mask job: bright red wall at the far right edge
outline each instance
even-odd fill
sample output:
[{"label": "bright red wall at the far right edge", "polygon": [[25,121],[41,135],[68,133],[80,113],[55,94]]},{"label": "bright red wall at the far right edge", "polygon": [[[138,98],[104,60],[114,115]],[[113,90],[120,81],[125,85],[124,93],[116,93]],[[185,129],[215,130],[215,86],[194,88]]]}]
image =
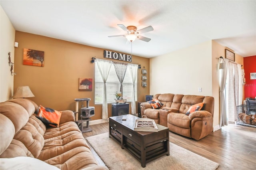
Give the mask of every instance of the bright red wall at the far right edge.
[{"label": "bright red wall at the far right edge", "polygon": [[256,73],[256,55],[244,57],[244,73],[246,81],[244,85],[244,98],[254,98],[256,97],[256,80],[250,79],[250,73]]}]

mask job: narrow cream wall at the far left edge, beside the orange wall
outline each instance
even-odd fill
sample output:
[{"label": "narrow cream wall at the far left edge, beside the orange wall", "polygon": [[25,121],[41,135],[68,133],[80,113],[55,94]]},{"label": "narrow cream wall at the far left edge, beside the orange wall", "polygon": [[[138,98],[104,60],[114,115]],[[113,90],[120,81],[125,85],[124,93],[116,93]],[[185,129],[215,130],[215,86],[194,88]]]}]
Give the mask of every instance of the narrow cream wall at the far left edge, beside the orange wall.
[{"label": "narrow cream wall at the far left edge, beside the orange wall", "polygon": [[[8,64],[8,52],[11,52],[11,61],[14,62],[15,29],[9,18],[0,8],[0,102],[13,96],[13,80],[11,67]],[[14,66],[15,67],[15,66]]]}]

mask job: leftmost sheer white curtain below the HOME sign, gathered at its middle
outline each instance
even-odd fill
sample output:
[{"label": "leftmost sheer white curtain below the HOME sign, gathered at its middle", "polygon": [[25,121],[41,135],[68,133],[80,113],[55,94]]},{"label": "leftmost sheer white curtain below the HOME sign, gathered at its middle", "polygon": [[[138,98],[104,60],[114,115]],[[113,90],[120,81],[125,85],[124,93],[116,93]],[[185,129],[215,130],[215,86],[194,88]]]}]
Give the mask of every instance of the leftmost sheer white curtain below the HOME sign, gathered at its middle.
[{"label": "leftmost sheer white curtain below the HOME sign, gathered at its middle", "polygon": [[103,87],[103,100],[102,100],[102,119],[108,118],[108,99],[107,99],[107,87],[106,81],[108,79],[108,73],[112,65],[112,61],[104,59],[96,59],[100,75],[102,77],[104,87]]}]

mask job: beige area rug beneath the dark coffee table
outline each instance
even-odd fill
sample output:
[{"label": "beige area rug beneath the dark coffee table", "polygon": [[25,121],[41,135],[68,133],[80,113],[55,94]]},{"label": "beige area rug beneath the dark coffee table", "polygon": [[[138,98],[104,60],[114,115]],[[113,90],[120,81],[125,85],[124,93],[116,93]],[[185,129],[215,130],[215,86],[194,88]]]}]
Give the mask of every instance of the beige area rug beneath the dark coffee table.
[{"label": "beige area rug beneath the dark coffee table", "polygon": [[90,136],[86,140],[110,170],[215,170],[219,166],[170,142],[170,156],[164,155],[142,168],[137,159],[108,137],[108,132]]}]

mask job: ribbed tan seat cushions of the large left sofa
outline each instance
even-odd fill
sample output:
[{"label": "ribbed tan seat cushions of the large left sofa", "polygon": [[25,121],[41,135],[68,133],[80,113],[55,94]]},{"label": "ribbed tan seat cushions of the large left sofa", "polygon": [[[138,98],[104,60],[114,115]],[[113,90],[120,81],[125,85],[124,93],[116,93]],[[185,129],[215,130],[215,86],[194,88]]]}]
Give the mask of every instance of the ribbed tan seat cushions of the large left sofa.
[{"label": "ribbed tan seat cushions of the large left sofa", "polygon": [[58,128],[48,128],[44,139],[44,147],[38,159],[48,164],[62,170],[97,165],[89,145],[75,122],[60,124]]}]

